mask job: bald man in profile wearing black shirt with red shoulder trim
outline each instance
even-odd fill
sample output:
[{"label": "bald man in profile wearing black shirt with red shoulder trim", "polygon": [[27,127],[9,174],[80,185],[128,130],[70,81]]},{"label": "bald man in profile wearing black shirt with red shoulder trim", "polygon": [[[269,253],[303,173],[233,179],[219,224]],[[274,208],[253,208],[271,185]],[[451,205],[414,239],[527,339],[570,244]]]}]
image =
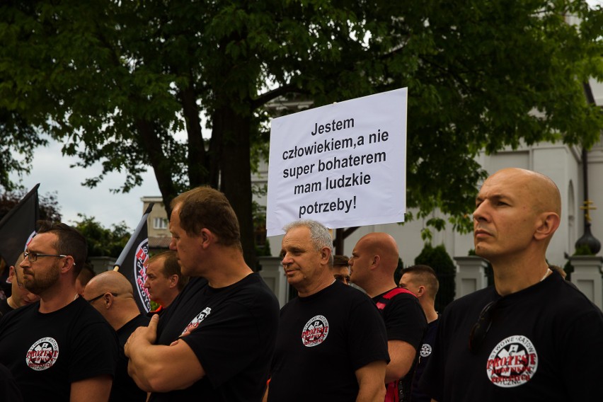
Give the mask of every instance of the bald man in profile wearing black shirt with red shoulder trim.
[{"label": "bald man in profile wearing black shirt with red shoulder trim", "polygon": [[387,330],[390,362],[385,372],[386,401],[410,401],[413,373],[427,320],[415,294],[394,280],[398,245],[386,233],[370,233],[356,243],[350,279],[377,304]]}]

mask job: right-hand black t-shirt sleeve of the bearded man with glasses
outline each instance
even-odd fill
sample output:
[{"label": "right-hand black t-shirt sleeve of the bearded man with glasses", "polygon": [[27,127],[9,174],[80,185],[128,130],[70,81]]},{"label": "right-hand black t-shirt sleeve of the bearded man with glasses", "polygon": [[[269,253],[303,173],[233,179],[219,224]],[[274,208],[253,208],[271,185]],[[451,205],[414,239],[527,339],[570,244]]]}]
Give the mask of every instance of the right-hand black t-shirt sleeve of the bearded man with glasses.
[{"label": "right-hand black t-shirt sleeve of the bearded man with glasses", "polygon": [[115,375],[118,357],[117,334],[108,323],[86,323],[80,325],[79,331],[74,331],[72,335],[74,336],[71,337],[69,345],[69,382]]}]

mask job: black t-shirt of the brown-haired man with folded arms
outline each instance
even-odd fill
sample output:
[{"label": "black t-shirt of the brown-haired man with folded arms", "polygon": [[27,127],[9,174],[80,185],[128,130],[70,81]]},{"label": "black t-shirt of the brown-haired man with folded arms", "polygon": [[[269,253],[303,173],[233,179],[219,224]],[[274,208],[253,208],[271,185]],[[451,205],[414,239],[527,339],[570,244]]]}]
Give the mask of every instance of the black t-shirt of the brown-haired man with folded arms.
[{"label": "black t-shirt of the brown-haired man with folded arms", "polygon": [[184,290],[159,318],[166,320],[159,343],[190,329],[182,339],[206,375],[188,389],[151,394],[151,401],[260,401],[278,325],[274,293],[258,273],[219,289],[196,280]]}]

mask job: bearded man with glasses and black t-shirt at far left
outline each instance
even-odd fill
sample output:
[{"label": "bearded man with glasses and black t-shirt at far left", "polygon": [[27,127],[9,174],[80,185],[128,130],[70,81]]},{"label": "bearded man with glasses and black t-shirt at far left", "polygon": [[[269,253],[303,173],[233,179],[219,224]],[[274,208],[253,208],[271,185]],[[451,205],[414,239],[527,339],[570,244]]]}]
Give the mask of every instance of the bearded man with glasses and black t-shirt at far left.
[{"label": "bearded man with glasses and black t-shirt at far left", "polygon": [[0,364],[24,401],[107,401],[117,360],[115,332],[79,297],[86,240],[66,224],[42,222],[20,267],[40,297],[0,320]]}]

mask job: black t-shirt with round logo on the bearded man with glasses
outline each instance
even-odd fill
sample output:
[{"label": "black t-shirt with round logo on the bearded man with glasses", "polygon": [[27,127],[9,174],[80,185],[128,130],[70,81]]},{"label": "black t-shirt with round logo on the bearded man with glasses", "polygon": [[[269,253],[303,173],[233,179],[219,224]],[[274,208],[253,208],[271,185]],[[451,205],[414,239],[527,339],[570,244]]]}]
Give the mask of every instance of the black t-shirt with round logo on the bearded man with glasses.
[{"label": "black t-shirt with round logo on the bearded man with glasses", "polygon": [[117,337],[86,300],[42,314],[40,302],[0,320],[0,363],[24,401],[69,401],[71,383],[115,374]]}]

